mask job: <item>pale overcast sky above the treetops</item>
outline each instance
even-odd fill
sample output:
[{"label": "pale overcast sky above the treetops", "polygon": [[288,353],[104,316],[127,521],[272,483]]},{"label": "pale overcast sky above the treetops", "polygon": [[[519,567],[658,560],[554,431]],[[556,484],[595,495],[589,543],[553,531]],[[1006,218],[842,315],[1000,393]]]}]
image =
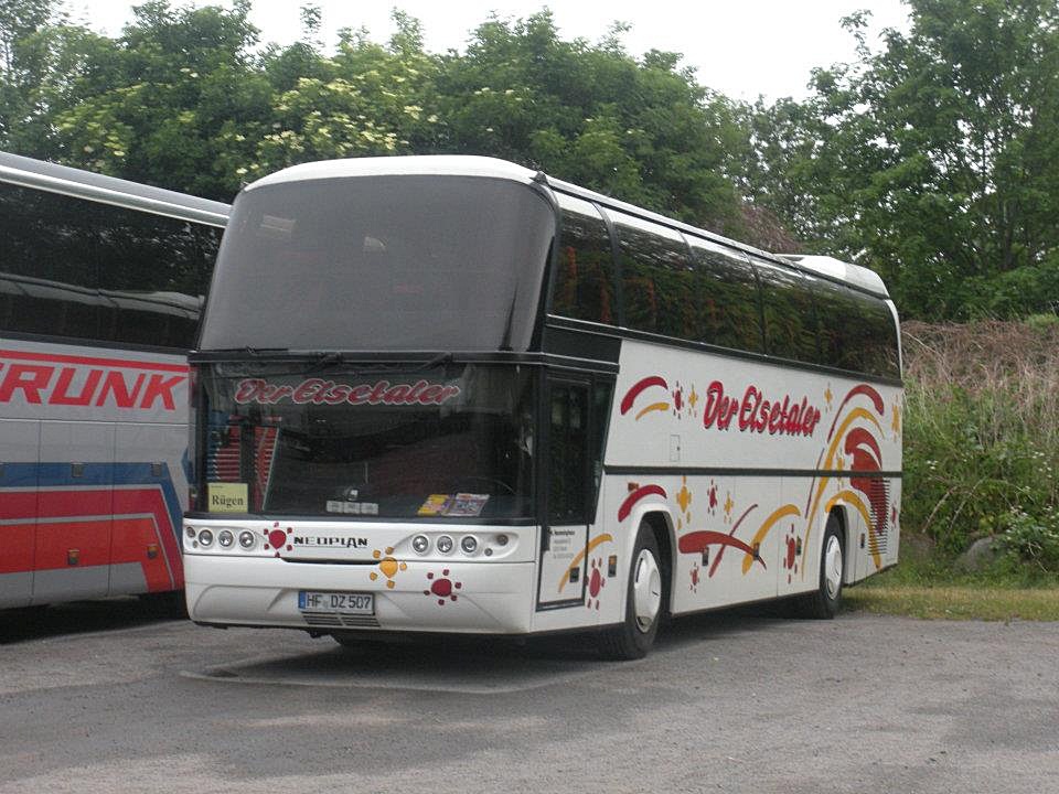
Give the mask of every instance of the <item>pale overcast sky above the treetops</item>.
[{"label": "pale overcast sky above the treetops", "polygon": [[[174,6],[231,6],[171,0]],[[547,6],[564,39],[598,41],[611,23],[631,25],[622,40],[633,55],[649,50],[678,52],[683,65],[696,69],[698,82],[732,99],[804,98],[814,66],[854,60],[853,37],[839,20],[858,9],[871,11],[868,43],[879,45],[885,28],[907,30],[908,9],[901,0],[311,0],[323,14],[324,45],[333,46],[341,28],[364,26],[374,41],[394,31],[396,6],[419,19],[426,49],[462,51],[470,32],[491,12],[501,18],[528,17]],[[254,0],[250,21],[263,42],[289,44],[300,32],[299,0]],[[117,36],[132,19],[127,0],[66,0],[73,20]]]}]

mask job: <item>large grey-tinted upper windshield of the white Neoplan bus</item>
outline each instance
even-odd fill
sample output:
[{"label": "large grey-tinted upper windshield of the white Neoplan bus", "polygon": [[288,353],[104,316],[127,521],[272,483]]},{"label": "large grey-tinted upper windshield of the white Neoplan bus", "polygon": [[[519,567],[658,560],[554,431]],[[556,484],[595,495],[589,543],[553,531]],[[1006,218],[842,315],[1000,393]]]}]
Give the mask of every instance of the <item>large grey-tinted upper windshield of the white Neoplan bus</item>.
[{"label": "large grey-tinted upper windshield of the white Neoplan bus", "polygon": [[201,348],[526,350],[555,219],[527,185],[357,176],[243,193]]}]

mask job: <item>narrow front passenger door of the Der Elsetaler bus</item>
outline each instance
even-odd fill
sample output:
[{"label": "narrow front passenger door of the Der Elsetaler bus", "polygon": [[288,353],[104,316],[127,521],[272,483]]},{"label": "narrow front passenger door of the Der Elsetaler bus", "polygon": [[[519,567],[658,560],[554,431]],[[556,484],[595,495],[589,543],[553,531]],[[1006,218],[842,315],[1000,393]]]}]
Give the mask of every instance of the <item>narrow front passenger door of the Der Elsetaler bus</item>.
[{"label": "narrow front passenger door of the Der Elsetaler bus", "polygon": [[589,382],[549,379],[545,389],[545,457],[537,483],[545,490],[537,609],[585,602],[588,544]]}]

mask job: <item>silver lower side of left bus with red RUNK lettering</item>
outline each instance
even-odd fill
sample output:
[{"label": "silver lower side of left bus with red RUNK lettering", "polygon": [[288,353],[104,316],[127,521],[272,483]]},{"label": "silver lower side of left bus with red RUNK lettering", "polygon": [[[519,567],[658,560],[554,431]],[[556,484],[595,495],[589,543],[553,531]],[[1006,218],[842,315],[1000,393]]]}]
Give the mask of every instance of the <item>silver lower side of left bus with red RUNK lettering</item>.
[{"label": "silver lower side of left bus with red RUNK lettering", "polygon": [[0,608],[179,589],[188,365],[0,340]]}]

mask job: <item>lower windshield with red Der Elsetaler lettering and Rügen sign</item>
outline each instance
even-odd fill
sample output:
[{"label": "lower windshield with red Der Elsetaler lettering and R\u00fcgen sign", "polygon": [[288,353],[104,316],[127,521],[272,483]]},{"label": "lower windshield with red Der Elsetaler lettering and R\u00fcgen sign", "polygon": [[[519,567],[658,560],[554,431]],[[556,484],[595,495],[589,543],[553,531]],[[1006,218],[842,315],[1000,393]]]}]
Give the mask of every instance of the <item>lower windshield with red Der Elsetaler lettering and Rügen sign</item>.
[{"label": "lower windshield with red Der Elsetaler lettering and R\u00fcgen sign", "polygon": [[[249,513],[370,518],[533,515],[526,367],[199,371],[205,501],[234,485]],[[211,498],[213,497],[213,501]]]}]

